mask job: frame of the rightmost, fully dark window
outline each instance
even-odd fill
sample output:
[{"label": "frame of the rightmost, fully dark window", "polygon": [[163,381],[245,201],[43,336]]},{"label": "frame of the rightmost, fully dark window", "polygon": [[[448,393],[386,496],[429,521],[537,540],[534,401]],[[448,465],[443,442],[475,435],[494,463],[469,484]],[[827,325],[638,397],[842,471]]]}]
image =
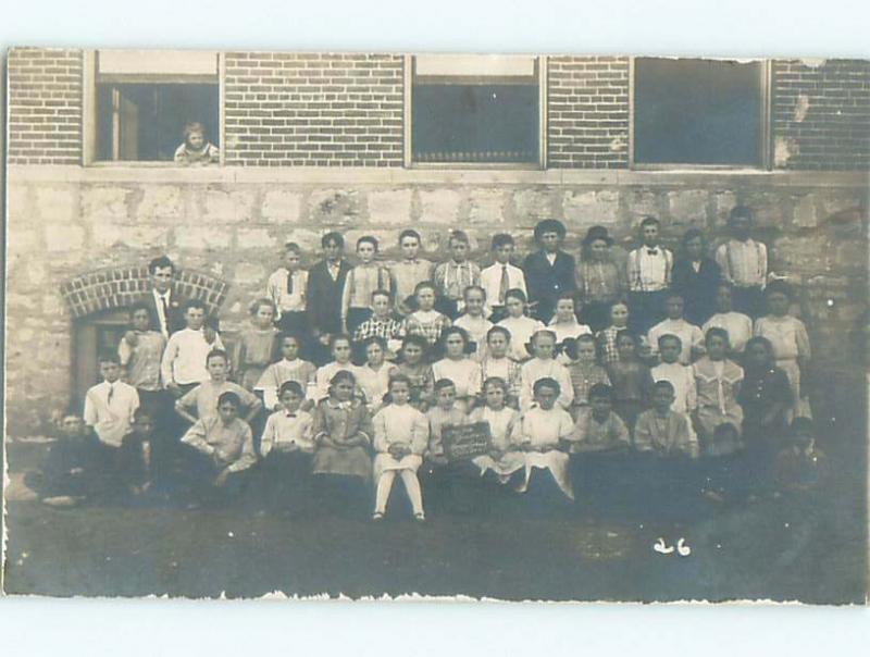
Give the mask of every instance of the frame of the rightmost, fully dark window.
[{"label": "frame of the rightmost, fully dark window", "polygon": [[[761,109],[759,116],[760,136],[758,144],[758,164],[699,164],[692,162],[637,162],[634,159],[634,121],[635,121],[635,92],[636,79],[635,62],[638,58],[629,60],[629,170],[630,171],[721,171],[721,172],[758,172],[772,171],[773,144],[772,144],[772,62],[769,59],[753,59],[761,64],[759,85],[761,87]],[[646,59],[646,58],[639,58]],[[714,58],[682,58],[682,59],[714,59]]]}]

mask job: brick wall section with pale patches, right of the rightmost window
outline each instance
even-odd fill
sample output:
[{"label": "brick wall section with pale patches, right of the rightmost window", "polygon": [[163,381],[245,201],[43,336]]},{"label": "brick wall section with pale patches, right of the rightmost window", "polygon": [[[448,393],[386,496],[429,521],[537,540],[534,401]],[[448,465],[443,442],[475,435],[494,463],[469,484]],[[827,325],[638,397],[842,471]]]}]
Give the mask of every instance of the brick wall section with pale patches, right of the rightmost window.
[{"label": "brick wall section with pale patches, right of the rightmost window", "polygon": [[870,62],[773,64],[778,169],[870,169]]}]

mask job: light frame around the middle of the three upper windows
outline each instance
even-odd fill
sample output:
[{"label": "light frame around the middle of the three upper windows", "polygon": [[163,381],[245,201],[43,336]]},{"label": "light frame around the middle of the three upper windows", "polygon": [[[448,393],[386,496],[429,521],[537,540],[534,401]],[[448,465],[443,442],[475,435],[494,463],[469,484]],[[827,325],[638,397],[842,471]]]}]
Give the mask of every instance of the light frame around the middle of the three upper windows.
[{"label": "light frame around the middle of the three upper windows", "polygon": [[[455,53],[450,53],[455,54]],[[414,162],[413,108],[411,97],[414,79],[414,57],[406,54],[403,63],[405,108],[402,112],[402,151],[405,169],[420,170],[482,170],[482,171],[545,171],[547,169],[547,57],[534,55],[537,63],[538,87],[538,153],[536,162]]]}]

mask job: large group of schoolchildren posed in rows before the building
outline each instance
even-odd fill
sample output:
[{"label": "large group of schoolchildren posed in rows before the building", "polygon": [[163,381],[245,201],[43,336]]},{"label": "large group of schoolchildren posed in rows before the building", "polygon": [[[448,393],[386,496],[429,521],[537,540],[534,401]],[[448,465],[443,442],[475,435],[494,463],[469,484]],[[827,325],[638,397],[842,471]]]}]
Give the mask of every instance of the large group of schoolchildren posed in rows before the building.
[{"label": "large group of schoolchildren posed in rows before the building", "polygon": [[[158,258],[152,295],[100,357],[84,422],[63,421],[61,462],[90,441],[112,492],[174,495],[181,481],[196,506],[253,486],[289,509],[371,505],[375,520],[396,479],[419,521],[424,500],[462,512],[531,491],[679,507],[811,485],[822,455],[801,385],[807,332],[750,211],[735,208],[729,226],[714,257],[696,230],[674,257],[647,216],[627,261],[594,226],[577,262],[564,226],[545,220],[522,266],[498,234],[483,269],[461,231],[433,264],[405,230],[389,265],[374,237],[351,264],[327,233],[308,271],[285,246],[232,351],[204,303],[173,296],[173,263]],[[488,450],[449,458],[446,430],[469,423],[488,425]],[[85,495],[78,461],[49,470],[47,499]]]}]

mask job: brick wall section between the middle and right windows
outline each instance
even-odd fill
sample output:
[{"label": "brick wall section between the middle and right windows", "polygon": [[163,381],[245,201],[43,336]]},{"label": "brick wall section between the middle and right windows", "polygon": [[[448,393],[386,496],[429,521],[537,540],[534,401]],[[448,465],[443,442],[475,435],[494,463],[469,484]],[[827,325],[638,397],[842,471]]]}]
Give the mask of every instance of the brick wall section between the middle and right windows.
[{"label": "brick wall section between the middle and right windows", "polygon": [[629,165],[629,58],[550,57],[548,163],[558,169]]}]

